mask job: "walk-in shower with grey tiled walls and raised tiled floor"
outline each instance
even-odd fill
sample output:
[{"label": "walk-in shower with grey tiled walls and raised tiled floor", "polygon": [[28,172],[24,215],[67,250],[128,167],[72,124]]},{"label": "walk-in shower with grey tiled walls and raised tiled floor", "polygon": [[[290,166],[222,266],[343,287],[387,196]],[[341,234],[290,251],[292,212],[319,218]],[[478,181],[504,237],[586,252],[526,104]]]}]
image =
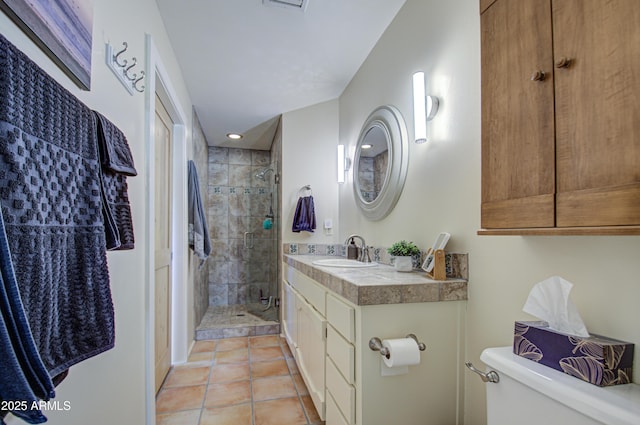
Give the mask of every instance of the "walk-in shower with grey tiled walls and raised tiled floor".
[{"label": "walk-in shower with grey tiled walls and raised tiled floor", "polygon": [[209,308],[196,339],[279,333],[278,155],[210,149],[216,152],[209,155],[215,172],[207,203],[214,252]]}]

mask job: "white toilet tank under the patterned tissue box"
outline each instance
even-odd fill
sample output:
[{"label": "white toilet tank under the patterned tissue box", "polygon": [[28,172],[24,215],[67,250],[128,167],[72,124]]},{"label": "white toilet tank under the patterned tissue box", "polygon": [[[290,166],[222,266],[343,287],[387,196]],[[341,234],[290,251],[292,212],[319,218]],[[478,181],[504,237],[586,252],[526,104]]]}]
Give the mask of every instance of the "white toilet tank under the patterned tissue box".
[{"label": "white toilet tank under the patterned tissue box", "polygon": [[640,425],[640,385],[598,387],[512,347],[487,348],[480,360],[500,376],[487,383],[487,425]]}]

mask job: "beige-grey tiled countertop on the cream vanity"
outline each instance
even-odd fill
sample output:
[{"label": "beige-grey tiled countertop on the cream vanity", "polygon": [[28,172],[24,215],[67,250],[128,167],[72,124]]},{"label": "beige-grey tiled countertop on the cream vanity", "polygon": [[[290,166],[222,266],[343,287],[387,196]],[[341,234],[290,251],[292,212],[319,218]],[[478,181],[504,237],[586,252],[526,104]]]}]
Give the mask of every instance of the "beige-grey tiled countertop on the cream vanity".
[{"label": "beige-grey tiled countertop on the cream vanity", "polygon": [[349,268],[312,264],[325,257],[284,255],[284,261],[302,274],[356,305],[405,304],[467,299],[467,280],[429,279],[425,272],[398,272],[392,266]]}]

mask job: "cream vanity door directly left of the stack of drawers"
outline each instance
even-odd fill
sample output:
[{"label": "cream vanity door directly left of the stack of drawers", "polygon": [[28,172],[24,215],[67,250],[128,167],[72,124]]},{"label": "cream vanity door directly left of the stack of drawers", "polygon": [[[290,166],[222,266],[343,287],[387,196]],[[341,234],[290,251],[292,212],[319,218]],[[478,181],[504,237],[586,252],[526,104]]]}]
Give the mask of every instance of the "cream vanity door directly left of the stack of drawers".
[{"label": "cream vanity door directly left of the stack of drawers", "polygon": [[318,415],[324,420],[327,322],[304,298],[298,297],[296,305],[298,309],[296,360]]}]

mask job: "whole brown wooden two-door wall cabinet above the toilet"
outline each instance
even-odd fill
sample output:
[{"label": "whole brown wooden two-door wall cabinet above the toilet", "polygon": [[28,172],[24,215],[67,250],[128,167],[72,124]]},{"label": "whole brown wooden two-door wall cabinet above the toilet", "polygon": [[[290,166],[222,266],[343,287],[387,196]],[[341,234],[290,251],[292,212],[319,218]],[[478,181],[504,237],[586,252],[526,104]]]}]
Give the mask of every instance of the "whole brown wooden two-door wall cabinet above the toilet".
[{"label": "whole brown wooden two-door wall cabinet above the toilet", "polygon": [[640,3],[481,0],[479,234],[640,234]]}]

